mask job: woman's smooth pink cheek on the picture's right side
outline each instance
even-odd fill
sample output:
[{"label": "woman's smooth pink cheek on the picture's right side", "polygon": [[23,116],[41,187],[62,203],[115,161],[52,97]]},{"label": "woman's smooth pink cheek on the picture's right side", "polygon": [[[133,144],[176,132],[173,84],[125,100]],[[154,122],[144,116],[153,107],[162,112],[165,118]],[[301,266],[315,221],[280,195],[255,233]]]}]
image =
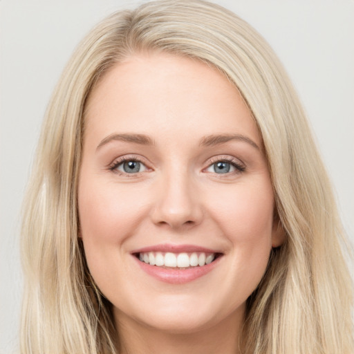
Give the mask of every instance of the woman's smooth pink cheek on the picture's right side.
[{"label": "woman's smooth pink cheek on the picture's right side", "polygon": [[270,183],[263,187],[235,186],[232,193],[219,193],[218,201],[212,214],[229,241],[232,268],[238,270],[233,277],[236,283],[253,279],[245,289],[252,292],[261,281],[272,248],[272,187]]}]

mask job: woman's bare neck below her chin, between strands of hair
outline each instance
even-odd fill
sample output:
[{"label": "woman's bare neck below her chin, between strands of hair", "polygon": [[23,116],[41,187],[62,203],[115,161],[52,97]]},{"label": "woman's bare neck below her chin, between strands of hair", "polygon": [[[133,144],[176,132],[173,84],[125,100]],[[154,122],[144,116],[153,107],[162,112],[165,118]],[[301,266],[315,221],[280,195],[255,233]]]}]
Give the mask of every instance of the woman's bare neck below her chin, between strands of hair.
[{"label": "woman's bare neck below her chin, between strands of hair", "polygon": [[[236,318],[237,317],[237,318]],[[214,326],[187,333],[169,333],[136,322],[115,312],[120,354],[239,354],[239,330],[243,312],[230,315]]]}]

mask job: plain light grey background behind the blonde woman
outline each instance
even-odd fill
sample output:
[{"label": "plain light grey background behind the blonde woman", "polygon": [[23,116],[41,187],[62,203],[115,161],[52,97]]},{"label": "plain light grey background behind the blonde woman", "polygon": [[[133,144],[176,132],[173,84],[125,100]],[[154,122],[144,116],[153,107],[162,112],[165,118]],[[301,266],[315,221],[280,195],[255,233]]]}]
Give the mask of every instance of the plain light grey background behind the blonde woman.
[{"label": "plain light grey background behind the blonde woman", "polygon": [[[77,43],[142,1],[0,0],[0,353],[16,353],[19,211],[50,93]],[[354,239],[354,0],[224,0],[277,52],[294,82]]]}]

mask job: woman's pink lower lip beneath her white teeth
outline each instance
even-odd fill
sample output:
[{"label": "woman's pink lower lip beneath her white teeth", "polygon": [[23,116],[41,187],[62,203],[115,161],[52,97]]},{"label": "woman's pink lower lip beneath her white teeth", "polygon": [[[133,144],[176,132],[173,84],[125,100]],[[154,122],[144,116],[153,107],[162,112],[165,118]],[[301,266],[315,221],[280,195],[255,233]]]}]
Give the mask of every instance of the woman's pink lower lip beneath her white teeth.
[{"label": "woman's pink lower lip beneath her white teeth", "polygon": [[147,274],[155,277],[160,281],[165,281],[165,283],[171,284],[184,284],[189,283],[189,281],[194,281],[203,275],[211,272],[216,265],[218,265],[220,259],[222,257],[216,258],[212,263],[203,265],[203,267],[194,267],[187,269],[165,269],[157,267],[156,265],[149,265],[145,262],[140,261],[138,258],[133,256],[138,265],[142,270],[144,270]]}]

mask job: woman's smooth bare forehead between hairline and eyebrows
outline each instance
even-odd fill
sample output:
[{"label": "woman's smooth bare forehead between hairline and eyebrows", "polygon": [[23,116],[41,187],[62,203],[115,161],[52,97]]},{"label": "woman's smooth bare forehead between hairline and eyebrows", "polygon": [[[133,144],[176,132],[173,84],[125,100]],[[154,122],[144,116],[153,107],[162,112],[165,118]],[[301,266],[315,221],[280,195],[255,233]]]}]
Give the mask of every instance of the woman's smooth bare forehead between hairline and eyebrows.
[{"label": "woman's smooth bare forehead between hairline and eyebrows", "polygon": [[86,105],[86,133],[159,135],[241,133],[261,143],[241,94],[216,68],[167,53],[133,55],[116,64]]}]

